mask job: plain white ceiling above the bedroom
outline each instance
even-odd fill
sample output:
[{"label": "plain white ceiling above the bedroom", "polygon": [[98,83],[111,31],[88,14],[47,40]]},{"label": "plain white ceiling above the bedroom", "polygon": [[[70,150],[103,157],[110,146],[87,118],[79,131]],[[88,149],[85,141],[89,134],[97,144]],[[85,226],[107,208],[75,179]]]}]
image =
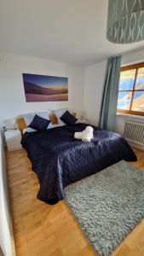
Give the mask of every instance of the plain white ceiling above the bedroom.
[{"label": "plain white ceiling above the bedroom", "polygon": [[0,0],[0,51],[89,65],[144,48],[106,39],[107,0]]}]

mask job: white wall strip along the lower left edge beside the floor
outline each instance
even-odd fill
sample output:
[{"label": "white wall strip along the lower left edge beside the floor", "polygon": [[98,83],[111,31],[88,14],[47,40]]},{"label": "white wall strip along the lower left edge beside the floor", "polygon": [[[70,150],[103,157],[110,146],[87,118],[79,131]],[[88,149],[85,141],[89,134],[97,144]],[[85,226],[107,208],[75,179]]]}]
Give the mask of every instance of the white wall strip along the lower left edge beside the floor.
[{"label": "white wall strip along the lower left edge beside the floor", "polygon": [[14,237],[9,213],[5,156],[0,135],[0,247],[4,256],[14,256]]}]

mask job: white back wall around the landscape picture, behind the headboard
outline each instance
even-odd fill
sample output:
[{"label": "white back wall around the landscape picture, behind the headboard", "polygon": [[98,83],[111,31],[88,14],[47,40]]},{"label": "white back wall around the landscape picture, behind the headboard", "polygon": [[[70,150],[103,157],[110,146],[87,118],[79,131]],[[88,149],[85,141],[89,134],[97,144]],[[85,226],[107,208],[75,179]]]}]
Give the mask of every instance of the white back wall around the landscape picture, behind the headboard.
[{"label": "white back wall around the landscape picture, behind the headboard", "polygon": [[[0,55],[0,122],[20,113],[84,108],[84,68],[20,55]],[[22,73],[68,77],[68,102],[26,102]]]}]

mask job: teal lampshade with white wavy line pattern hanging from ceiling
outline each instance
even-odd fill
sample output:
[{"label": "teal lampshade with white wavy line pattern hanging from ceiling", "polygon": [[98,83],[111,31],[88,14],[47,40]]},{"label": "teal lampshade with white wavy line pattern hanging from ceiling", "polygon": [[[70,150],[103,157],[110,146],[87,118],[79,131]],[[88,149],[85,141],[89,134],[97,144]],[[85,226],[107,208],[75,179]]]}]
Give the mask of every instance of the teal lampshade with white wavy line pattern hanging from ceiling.
[{"label": "teal lampshade with white wavy line pattern hanging from ceiling", "polygon": [[109,0],[107,40],[129,44],[144,39],[144,0]]}]

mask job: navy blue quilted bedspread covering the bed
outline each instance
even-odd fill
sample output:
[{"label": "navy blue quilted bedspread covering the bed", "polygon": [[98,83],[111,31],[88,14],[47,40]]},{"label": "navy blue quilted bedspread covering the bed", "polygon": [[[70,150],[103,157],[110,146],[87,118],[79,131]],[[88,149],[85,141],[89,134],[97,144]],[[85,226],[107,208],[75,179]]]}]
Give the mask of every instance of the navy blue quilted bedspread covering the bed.
[{"label": "navy blue quilted bedspread covering the bed", "polygon": [[49,204],[64,198],[67,184],[78,181],[119,160],[133,161],[136,156],[124,137],[112,131],[94,128],[94,139],[83,143],[74,138],[85,124],[66,125],[48,131],[26,132],[23,148],[37,173],[40,189],[37,198]]}]

